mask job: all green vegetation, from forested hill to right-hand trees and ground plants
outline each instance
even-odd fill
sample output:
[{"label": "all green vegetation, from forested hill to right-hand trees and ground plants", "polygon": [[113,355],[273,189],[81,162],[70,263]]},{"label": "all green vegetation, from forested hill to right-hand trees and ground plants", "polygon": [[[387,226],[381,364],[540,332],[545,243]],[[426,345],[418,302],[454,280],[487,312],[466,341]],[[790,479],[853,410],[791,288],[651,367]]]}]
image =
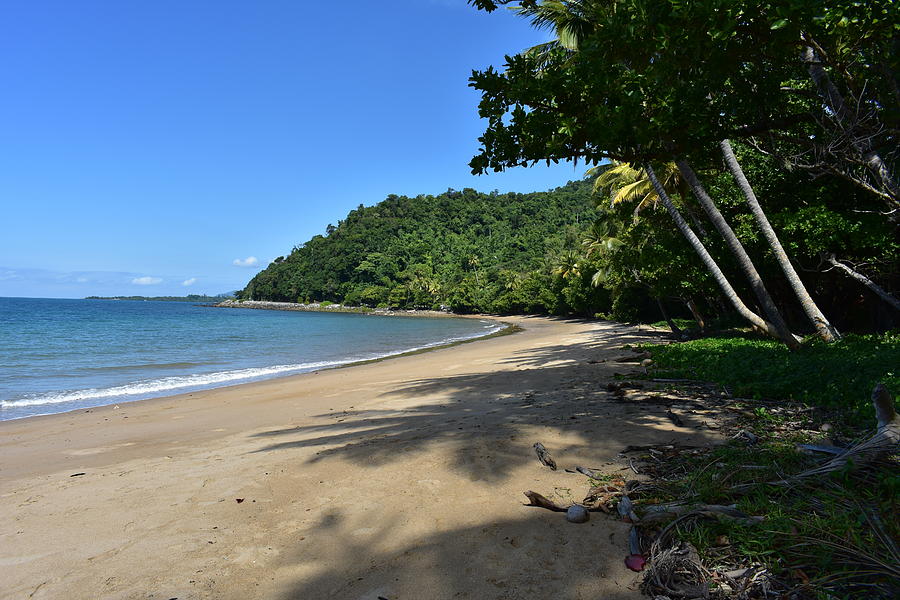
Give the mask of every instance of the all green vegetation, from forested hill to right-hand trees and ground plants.
[{"label": "all green vegetation, from forested hill to right-hand trees and ground plants", "polygon": [[[657,452],[638,504],[764,519],[676,519],[644,591],[898,597],[897,444],[797,444],[856,448],[873,386],[900,392],[900,3],[469,4],[551,34],[473,72],[473,173],[570,160],[585,179],[360,206],[238,298],[664,323],[647,377],[712,382],[746,416],[722,446]],[[673,540],[700,562],[664,556]],[[755,575],[711,578],[735,567]]]}]

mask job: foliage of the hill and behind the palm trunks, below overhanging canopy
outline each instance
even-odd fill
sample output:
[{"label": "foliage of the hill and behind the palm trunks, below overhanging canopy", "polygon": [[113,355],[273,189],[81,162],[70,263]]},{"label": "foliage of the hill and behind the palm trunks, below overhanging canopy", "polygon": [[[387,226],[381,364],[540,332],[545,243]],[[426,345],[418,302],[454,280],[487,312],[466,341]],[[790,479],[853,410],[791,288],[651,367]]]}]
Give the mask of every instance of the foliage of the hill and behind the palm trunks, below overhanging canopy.
[{"label": "foliage of the hill and behind the palm trunks, below overhanging canopy", "polygon": [[[864,265],[888,289],[897,287],[900,243],[877,213],[877,199],[836,179],[810,181],[752,148],[736,150],[804,281],[835,324],[845,331],[896,327],[888,305],[822,260],[836,253]],[[757,267],[788,321],[808,333],[734,182],[722,168],[702,176],[748,251],[759,257]],[[715,284],[666,212],[653,202],[612,204],[611,194],[592,190],[588,180],[532,194],[467,189],[390,196],[276,259],[238,296],[458,312],[599,313],[623,321],[657,321],[662,308],[672,317],[699,316],[707,325],[727,318]],[[677,202],[696,219],[710,251],[724,257],[723,268],[736,272],[690,194]]]}]

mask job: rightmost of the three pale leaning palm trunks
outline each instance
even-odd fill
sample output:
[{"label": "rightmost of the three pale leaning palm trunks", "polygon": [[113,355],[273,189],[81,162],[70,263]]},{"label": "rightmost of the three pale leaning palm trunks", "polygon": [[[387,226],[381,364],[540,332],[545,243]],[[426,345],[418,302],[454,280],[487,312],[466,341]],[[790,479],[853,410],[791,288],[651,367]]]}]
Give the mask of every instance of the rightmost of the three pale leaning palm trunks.
[{"label": "rightmost of the three pale leaning palm trunks", "polygon": [[753,216],[756,217],[756,223],[759,225],[760,230],[762,230],[766,240],[768,240],[769,246],[775,254],[775,258],[778,259],[778,264],[781,265],[781,270],[784,271],[788,283],[790,283],[791,288],[800,300],[803,312],[809,317],[809,320],[812,322],[813,327],[816,328],[819,337],[826,342],[833,342],[840,337],[840,334],[832,327],[831,323],[828,322],[828,319],[825,318],[825,315],[822,314],[822,311],[819,310],[819,307],[816,306],[816,303],[810,297],[809,292],[806,291],[806,287],[800,280],[800,276],[797,275],[794,265],[791,264],[787,253],[781,246],[781,242],[778,240],[775,230],[772,229],[772,224],[769,223],[766,213],[763,212],[762,207],[759,205],[759,201],[756,199],[756,194],[753,193],[750,182],[747,181],[747,178],[744,176],[744,170],[741,169],[741,165],[738,163],[734,151],[731,149],[731,144],[728,140],[722,140],[719,147],[722,149],[722,154],[725,156],[725,164],[728,165],[728,170],[731,171],[731,175],[734,177],[735,181],[737,181],[738,187],[744,195],[744,199],[747,201],[747,204],[750,205]]}]

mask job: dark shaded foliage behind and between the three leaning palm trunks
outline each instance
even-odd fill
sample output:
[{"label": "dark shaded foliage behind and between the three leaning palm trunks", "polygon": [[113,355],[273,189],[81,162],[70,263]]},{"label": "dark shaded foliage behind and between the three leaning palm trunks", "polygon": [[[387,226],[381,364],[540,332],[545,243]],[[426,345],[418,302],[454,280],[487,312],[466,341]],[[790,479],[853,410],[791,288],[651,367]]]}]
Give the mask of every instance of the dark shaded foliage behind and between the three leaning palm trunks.
[{"label": "dark shaded foliage behind and between the three leaning palm trunks", "polygon": [[[900,289],[900,240],[896,228],[879,214],[878,199],[841,180],[811,180],[806,173],[784,169],[777,159],[750,147],[736,144],[735,149],[792,262],[832,322],[842,331],[900,326],[900,313],[825,262],[827,256],[836,254],[865,269],[886,289]],[[792,329],[810,333],[784,274],[730,175],[720,166],[701,176],[754,257]],[[697,316],[687,309],[693,301],[707,325],[710,320],[732,314],[722,305],[715,283],[665,210],[651,203],[635,216],[637,201],[611,205],[610,195],[608,190],[600,190],[594,199],[599,204],[604,232],[617,243],[596,252],[594,264],[601,272],[602,285],[610,289],[614,299],[614,317],[657,321],[663,316],[655,303],[640,298],[660,298],[672,316],[687,317]],[[699,225],[695,225],[698,235],[720,260],[741,295],[750,297],[723,240],[715,235],[692,196],[686,193],[676,202],[685,214],[693,216],[692,223]]]}]

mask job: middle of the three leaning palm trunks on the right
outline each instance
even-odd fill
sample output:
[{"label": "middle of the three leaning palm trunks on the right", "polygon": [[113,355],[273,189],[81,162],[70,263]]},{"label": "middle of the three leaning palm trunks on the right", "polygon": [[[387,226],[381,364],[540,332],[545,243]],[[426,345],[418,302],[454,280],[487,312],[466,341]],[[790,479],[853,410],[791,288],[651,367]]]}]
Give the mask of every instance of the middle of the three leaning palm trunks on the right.
[{"label": "middle of the three leaning palm trunks on the right", "polygon": [[684,177],[685,181],[688,182],[688,185],[691,186],[694,195],[697,196],[697,200],[700,202],[703,210],[706,211],[706,214],[709,216],[709,219],[712,221],[716,230],[725,238],[728,248],[731,250],[732,254],[734,254],[734,257],[738,261],[738,265],[740,265],[741,270],[750,282],[750,287],[753,288],[753,293],[756,294],[756,298],[759,300],[763,312],[775,326],[775,331],[777,332],[776,337],[783,341],[788,348],[796,350],[800,347],[800,344],[784,322],[781,313],[778,311],[778,307],[775,306],[775,302],[772,300],[772,296],[769,295],[769,290],[766,289],[766,286],[763,283],[762,277],[760,277],[756,267],[753,266],[750,255],[744,250],[743,244],[737,239],[731,226],[725,221],[725,217],[723,217],[722,213],[719,212],[719,209],[716,208],[712,198],[710,198],[709,194],[706,193],[706,190],[703,189],[700,180],[697,179],[697,175],[694,173],[693,169],[691,169],[690,165],[683,159],[676,160],[675,164],[678,165],[678,170],[681,171],[682,177]]}]

